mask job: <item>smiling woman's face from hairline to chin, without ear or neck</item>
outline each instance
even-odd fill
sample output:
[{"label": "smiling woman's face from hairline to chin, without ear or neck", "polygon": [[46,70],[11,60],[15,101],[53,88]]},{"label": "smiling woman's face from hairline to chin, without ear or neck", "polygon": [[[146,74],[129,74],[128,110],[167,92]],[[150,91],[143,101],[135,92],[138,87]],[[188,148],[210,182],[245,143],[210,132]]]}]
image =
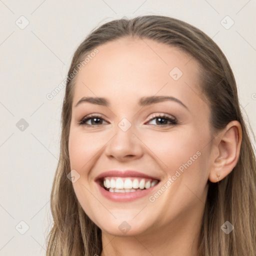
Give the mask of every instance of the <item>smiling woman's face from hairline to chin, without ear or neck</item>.
[{"label": "smiling woman's face from hairline to chin, without ear or neck", "polygon": [[[97,49],[76,76],[72,103],[68,150],[79,203],[112,235],[191,226],[204,208],[211,154],[195,59],[130,37]],[[77,104],[82,97],[91,99]]]}]

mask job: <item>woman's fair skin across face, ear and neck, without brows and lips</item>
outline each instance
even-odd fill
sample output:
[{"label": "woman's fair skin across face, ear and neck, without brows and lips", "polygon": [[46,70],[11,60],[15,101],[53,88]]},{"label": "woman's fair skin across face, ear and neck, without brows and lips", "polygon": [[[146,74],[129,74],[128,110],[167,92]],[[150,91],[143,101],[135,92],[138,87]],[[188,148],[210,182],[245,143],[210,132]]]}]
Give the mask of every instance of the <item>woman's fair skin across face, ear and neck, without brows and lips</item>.
[{"label": "woman's fair skin across face, ear and neck, without brows and lips", "polygon": [[[210,109],[199,90],[198,65],[179,49],[150,39],[120,38],[97,47],[95,55],[77,74],[69,134],[71,169],[80,177],[73,188],[90,219],[102,230],[102,255],[196,255],[208,180],[225,177],[239,156],[241,127],[237,121],[212,136]],[[190,61],[189,61],[190,60]],[[182,71],[174,80],[173,67]],[[173,96],[187,106],[163,101],[148,106],[140,97]],[[84,102],[82,96],[105,97],[110,105]],[[77,122],[101,114],[102,124]],[[175,117],[177,124],[160,126],[158,114]],[[118,123],[126,118],[127,131]],[[154,119],[151,119],[154,118]],[[150,120],[151,119],[151,120]],[[169,123],[163,119],[163,123]],[[153,202],[148,197],[188,162]],[[132,169],[160,179],[157,189],[132,202],[113,202],[99,192],[94,178],[111,169]],[[130,230],[118,226],[126,221]]]}]

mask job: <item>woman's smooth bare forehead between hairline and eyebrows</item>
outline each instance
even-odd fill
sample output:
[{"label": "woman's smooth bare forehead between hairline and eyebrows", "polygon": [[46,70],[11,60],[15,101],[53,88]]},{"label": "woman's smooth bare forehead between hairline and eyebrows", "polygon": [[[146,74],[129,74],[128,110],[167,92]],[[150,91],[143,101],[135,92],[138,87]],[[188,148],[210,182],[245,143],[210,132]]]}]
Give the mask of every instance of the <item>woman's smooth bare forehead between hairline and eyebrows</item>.
[{"label": "woman's smooth bare forehead between hairline and eyebrows", "polygon": [[156,93],[198,100],[197,62],[177,47],[124,37],[96,48],[98,53],[77,74],[73,105],[84,95],[110,102]]}]

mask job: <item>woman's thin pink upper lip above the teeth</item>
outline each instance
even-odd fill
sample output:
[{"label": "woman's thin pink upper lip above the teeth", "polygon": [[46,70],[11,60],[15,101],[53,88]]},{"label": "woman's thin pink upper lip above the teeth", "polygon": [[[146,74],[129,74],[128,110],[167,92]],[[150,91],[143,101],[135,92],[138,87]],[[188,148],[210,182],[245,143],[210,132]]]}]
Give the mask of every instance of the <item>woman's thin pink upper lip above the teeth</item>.
[{"label": "woman's thin pink upper lip above the teeth", "polygon": [[157,179],[158,177],[150,176],[147,174],[144,174],[142,172],[138,172],[136,170],[108,170],[100,173],[98,176],[95,177],[95,180],[102,179],[103,177],[143,177],[143,178],[151,178],[151,179]]}]

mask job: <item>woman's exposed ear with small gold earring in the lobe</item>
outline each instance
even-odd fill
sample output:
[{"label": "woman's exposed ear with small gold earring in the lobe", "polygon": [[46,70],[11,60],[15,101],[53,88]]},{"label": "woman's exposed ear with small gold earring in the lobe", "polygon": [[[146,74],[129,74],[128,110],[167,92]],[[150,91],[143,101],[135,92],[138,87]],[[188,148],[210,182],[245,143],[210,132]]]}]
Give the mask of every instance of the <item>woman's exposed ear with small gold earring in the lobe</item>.
[{"label": "woman's exposed ear with small gold earring in the lobe", "polygon": [[215,138],[212,148],[209,180],[217,182],[228,175],[236,165],[242,140],[241,124],[230,121]]}]

